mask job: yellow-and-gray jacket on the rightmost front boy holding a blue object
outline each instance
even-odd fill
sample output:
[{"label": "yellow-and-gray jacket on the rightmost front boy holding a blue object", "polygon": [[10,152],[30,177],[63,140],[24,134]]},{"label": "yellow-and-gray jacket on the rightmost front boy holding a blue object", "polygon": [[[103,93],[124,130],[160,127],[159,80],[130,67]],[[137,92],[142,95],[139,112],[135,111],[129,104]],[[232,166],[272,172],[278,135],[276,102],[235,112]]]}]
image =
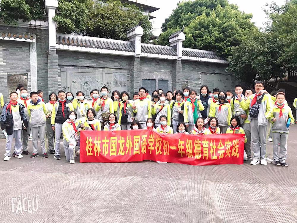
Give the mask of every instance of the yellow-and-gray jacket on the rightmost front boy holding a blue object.
[{"label": "yellow-and-gray jacket on the rightmost front boy holding a blue object", "polygon": [[[281,117],[279,117],[279,112],[280,109],[275,105],[272,109],[272,115],[269,118],[269,121],[272,123],[272,132],[289,133],[290,127],[287,127],[287,120],[291,118],[290,125],[294,124],[292,110],[289,106],[285,105],[282,108]],[[273,118],[276,118],[277,120],[273,122]]]}]

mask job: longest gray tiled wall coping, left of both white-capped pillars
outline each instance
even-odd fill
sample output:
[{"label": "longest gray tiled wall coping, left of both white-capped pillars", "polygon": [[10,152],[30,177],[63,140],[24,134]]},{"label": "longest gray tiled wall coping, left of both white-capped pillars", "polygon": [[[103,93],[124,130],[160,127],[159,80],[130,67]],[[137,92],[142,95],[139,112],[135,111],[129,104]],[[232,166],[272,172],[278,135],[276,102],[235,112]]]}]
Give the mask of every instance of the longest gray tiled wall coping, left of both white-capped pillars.
[{"label": "longest gray tiled wall coping, left of both white-capped pillars", "polygon": [[61,45],[80,46],[86,48],[97,48],[107,50],[117,50],[134,52],[134,47],[129,42],[117,42],[116,40],[102,40],[100,38],[88,38],[82,36],[69,36],[67,34],[58,34],[56,36],[56,43]]}]

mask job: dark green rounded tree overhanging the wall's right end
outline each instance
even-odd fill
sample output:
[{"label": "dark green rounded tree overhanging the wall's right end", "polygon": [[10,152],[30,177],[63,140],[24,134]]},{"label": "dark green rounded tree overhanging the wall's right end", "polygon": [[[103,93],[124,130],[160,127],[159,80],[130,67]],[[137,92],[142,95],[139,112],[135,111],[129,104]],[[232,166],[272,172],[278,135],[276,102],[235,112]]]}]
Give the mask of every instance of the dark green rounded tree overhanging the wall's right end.
[{"label": "dark green rounded tree overhanging the wall's right end", "polygon": [[279,61],[283,48],[283,42],[273,32],[255,30],[240,46],[232,48],[227,70],[248,85],[255,80],[283,78],[287,71],[287,63]]}]

